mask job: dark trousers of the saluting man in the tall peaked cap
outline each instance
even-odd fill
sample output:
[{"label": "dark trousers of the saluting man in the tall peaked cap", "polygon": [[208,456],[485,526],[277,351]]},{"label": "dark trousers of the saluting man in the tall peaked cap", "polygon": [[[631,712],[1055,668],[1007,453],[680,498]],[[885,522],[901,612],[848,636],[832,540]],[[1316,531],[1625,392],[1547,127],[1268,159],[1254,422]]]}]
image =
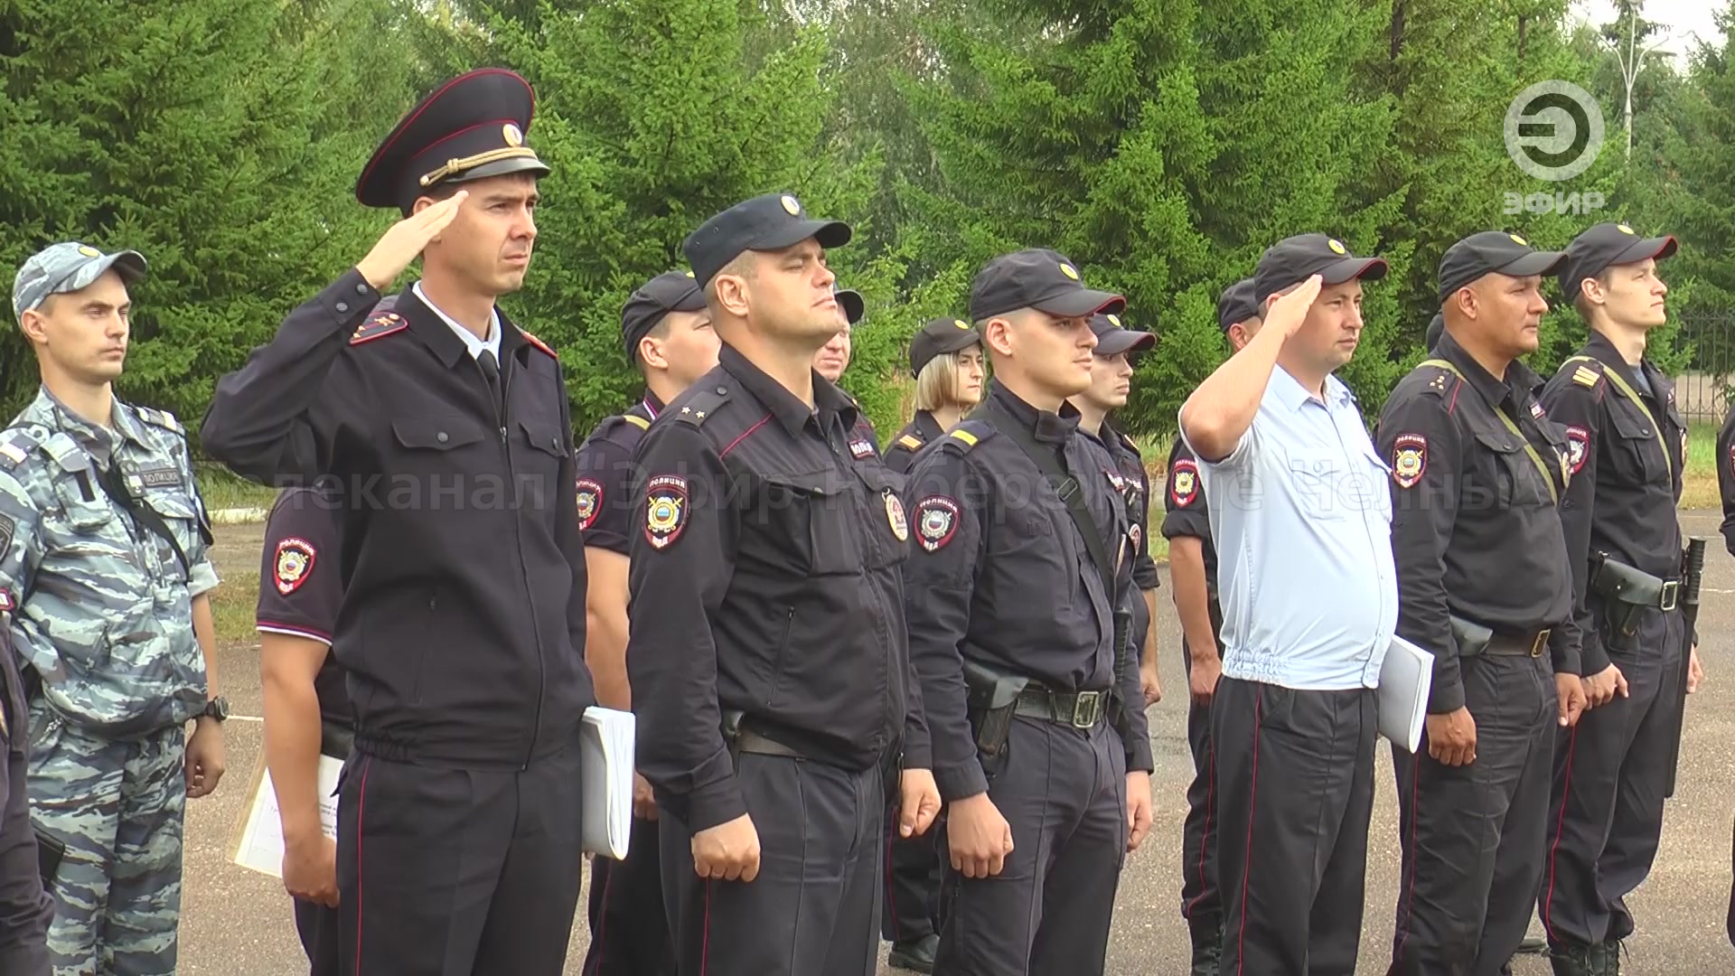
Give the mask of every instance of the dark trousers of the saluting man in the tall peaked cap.
[{"label": "dark trousers of the saluting man in the tall peaked cap", "polygon": [[357,743],[338,787],[345,976],[560,973],[583,853],[578,830],[548,814],[578,809],[576,740],[522,769],[406,762]]}]

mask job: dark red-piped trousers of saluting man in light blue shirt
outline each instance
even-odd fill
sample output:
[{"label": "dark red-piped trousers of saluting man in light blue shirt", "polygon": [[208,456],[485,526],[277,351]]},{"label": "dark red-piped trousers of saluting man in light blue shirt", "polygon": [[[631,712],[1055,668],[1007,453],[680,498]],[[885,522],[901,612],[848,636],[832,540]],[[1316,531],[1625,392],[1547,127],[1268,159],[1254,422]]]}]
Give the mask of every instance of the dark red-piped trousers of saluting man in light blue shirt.
[{"label": "dark red-piped trousers of saluting man in light blue shirt", "polygon": [[1374,691],[1223,677],[1211,702],[1225,974],[1353,976]]}]

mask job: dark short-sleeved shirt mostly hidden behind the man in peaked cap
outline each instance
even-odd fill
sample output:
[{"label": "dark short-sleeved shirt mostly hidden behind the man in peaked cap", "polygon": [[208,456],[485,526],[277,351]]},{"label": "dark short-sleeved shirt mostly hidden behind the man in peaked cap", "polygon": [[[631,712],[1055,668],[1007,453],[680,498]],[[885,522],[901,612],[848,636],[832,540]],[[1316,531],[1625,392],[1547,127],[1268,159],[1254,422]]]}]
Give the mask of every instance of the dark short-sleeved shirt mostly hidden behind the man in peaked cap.
[{"label": "dark short-sleeved shirt mostly hidden behind the man in peaked cap", "polygon": [[[259,604],[253,613],[259,632],[331,646],[344,604],[340,502],[316,488],[290,488],[271,505],[265,544],[259,552]],[[314,676],[314,695],[323,724],[354,733],[344,667],[330,651]]]}]

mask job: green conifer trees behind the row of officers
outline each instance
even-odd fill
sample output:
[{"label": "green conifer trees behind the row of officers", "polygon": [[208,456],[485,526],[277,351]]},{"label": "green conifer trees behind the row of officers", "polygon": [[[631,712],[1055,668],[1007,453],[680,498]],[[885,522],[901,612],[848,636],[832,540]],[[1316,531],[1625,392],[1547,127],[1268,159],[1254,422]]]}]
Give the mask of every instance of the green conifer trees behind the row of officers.
[{"label": "green conifer trees behind the row of officers", "polygon": [[[1643,5],[1617,7],[1643,43]],[[1622,24],[1574,28],[1570,0],[0,0],[0,264],[66,238],[142,250],[121,392],[196,422],[215,377],[390,221],[352,188],[392,123],[503,64],[534,83],[531,142],[553,165],[503,306],[560,351],[579,432],[640,386],[628,292],[767,191],[855,228],[831,255],[868,299],[845,386],[881,436],[907,413],[913,330],[963,314],[977,269],[1018,247],[1067,254],[1161,333],[1121,419],[1157,438],[1228,354],[1220,290],[1305,231],[1391,267],[1343,370],[1369,413],[1423,354],[1440,255],[1482,229],[1549,248],[1603,219],[1676,234],[1664,278],[1686,326],[1652,354],[1730,372],[1728,23],[1681,69],[1645,64],[1631,158],[1605,43]],[[1513,97],[1551,78],[1607,122],[1565,182],[1503,141]],[[1508,193],[1605,205],[1509,214]],[[1530,365],[1582,339],[1556,307]],[[0,330],[0,410],[33,387]]]}]

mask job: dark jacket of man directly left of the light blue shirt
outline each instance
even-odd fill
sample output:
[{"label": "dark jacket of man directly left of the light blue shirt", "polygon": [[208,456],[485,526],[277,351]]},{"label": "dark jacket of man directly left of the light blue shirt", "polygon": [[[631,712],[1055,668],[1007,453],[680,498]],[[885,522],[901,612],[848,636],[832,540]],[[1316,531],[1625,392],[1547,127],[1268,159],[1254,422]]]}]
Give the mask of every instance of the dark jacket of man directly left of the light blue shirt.
[{"label": "dark jacket of man directly left of the light blue shirt", "polygon": [[[1036,462],[985,420],[965,420],[909,472],[909,643],[933,740],[933,776],[949,802],[987,778],[970,733],[961,660],[1031,677],[1050,691],[1117,689],[1131,742],[1128,769],[1152,769],[1138,656],[1114,646],[1114,610],[1131,599],[1126,502],[1114,462],[1077,429],[1077,410],[1039,412],[998,382],[989,398],[1029,424],[1038,446],[1064,458],[1103,549],[1116,563],[1103,589],[1090,549]],[[1116,674],[1116,660],[1123,670]]]}]

